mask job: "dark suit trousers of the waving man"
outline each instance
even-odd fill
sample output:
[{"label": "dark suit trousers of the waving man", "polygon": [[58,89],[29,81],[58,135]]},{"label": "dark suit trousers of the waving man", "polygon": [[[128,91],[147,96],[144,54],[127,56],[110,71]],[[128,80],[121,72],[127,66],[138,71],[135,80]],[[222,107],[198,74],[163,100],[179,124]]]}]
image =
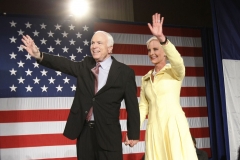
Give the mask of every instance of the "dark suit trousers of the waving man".
[{"label": "dark suit trousers of the waving man", "polygon": [[77,139],[78,160],[122,160],[122,151],[103,150],[97,142],[94,121],[86,121]]}]

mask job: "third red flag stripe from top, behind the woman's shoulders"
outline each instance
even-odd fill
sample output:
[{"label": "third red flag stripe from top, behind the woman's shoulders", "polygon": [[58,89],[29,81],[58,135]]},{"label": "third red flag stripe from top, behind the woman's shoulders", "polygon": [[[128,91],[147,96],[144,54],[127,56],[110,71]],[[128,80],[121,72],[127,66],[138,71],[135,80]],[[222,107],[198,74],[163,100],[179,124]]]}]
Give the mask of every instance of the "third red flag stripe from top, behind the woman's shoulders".
[{"label": "third red flag stripe from top, behind the woman's shoulders", "polygon": [[[129,65],[132,68],[137,76],[143,76],[148,73],[154,66],[139,66],[139,65]],[[185,76],[189,77],[204,77],[204,68],[203,67],[185,67],[186,74]]]}]

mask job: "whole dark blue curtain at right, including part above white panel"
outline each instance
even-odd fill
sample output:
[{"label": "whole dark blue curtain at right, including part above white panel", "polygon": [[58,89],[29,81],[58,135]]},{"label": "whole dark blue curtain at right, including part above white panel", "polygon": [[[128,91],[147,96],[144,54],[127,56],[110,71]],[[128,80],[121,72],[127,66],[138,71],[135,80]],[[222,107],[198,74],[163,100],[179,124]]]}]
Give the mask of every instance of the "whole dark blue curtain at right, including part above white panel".
[{"label": "whole dark blue curtain at right, including part above white panel", "polygon": [[[210,32],[203,31],[203,45],[206,47],[204,49],[204,66],[211,147],[214,160],[230,160],[222,60],[240,60],[240,1],[211,0],[211,9],[213,38],[209,37]],[[214,39],[214,43],[209,42],[210,39]],[[211,43],[215,46],[215,51],[210,50]]]}]

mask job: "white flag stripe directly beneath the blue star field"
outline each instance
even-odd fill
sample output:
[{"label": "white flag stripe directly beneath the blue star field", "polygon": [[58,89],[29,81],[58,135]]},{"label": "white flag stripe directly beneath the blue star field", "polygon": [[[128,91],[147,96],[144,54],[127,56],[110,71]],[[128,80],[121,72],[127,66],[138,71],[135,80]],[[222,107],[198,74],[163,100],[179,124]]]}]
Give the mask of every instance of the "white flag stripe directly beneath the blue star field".
[{"label": "white flag stripe directly beneath the blue star field", "polygon": [[[69,109],[72,101],[73,97],[0,98],[0,111]],[[180,103],[182,107],[207,106],[206,97],[180,97]],[[124,101],[121,108],[126,108]]]}]

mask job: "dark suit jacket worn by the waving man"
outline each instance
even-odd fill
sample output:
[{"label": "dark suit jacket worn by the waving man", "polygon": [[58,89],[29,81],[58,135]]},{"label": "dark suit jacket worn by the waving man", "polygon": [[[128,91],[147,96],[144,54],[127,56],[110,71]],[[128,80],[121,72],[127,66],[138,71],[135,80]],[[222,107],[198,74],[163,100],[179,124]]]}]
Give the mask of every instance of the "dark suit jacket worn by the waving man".
[{"label": "dark suit jacket worn by the waving man", "polygon": [[125,101],[128,114],[129,139],[139,139],[140,116],[134,71],[111,58],[113,62],[106,85],[96,94],[94,94],[94,75],[91,72],[96,62],[92,57],[85,57],[81,62],[73,62],[64,57],[43,53],[43,60],[39,64],[77,78],[76,92],[63,134],[69,139],[76,139],[83,129],[89,109],[93,106],[99,145],[104,150],[119,151],[122,150],[119,123],[122,100]]}]

